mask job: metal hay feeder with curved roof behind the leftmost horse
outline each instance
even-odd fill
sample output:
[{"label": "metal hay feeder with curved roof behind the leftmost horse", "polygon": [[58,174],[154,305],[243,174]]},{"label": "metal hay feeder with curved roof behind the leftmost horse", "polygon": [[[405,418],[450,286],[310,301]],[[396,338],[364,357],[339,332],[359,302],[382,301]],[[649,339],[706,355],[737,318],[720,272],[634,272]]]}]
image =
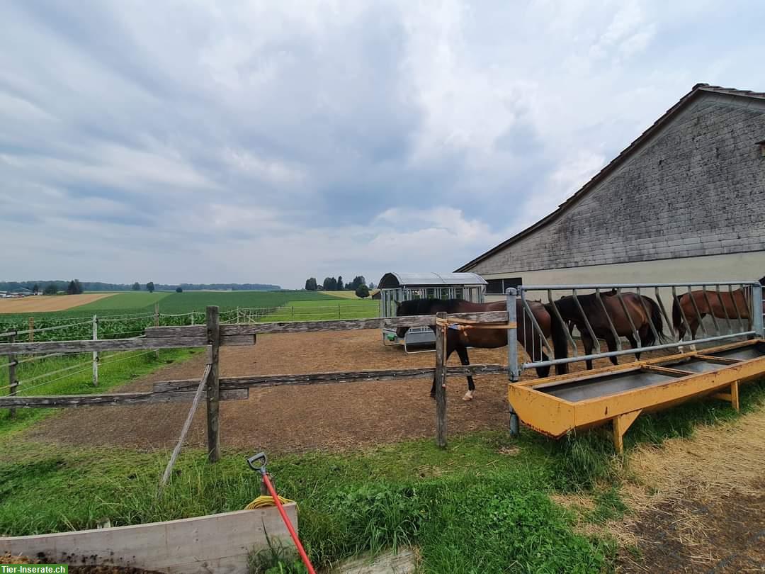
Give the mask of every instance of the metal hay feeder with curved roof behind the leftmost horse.
[{"label": "metal hay feeder with curved roof behind the leftmost horse", "polygon": [[[476,273],[386,273],[377,285],[380,293],[380,317],[395,317],[396,305],[411,299],[465,299],[483,303],[487,282]],[[428,327],[413,327],[403,339],[395,329],[382,330],[383,344],[403,344],[409,347],[435,344],[435,334]]]}]

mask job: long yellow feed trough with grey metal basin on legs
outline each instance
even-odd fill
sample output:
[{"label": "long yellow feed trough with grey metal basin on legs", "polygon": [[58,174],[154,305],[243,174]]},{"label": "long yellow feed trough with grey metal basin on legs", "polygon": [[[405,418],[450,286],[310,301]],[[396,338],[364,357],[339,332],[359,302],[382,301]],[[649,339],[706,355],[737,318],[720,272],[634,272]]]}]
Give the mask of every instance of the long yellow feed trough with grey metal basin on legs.
[{"label": "long yellow feed trough with grey metal basin on legs", "polygon": [[640,413],[711,394],[738,409],[738,383],[765,374],[765,341],[743,341],[585,373],[510,383],[508,400],[520,420],[559,438],[611,421],[614,445]]}]

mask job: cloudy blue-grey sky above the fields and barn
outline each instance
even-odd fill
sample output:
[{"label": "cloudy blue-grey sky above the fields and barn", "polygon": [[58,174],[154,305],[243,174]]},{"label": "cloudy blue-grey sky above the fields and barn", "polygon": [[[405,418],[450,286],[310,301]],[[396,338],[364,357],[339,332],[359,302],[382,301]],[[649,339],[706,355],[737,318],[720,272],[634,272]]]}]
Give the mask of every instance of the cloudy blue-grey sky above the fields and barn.
[{"label": "cloudy blue-grey sky above the fields and barn", "polygon": [[0,2],[0,279],[450,272],[695,83],[760,2]]}]

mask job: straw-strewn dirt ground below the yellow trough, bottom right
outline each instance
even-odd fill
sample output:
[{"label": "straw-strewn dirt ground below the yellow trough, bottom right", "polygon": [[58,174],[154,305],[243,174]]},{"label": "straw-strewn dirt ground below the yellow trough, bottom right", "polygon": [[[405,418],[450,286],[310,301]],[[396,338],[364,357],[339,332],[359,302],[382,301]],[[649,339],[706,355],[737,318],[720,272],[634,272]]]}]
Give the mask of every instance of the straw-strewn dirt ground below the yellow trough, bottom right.
[{"label": "straw-strewn dirt ground below the yellow trough, bottom right", "polygon": [[765,409],[630,455],[622,572],[765,572]]}]

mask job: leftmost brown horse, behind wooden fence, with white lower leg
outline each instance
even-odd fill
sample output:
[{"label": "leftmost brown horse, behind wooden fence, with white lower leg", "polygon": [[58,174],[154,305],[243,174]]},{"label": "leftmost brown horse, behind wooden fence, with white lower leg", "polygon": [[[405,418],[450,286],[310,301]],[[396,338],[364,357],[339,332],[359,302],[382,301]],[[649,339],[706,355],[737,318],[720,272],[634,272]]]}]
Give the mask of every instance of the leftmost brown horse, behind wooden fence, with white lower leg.
[{"label": "leftmost brown horse, behind wooden fence, with white lower leg", "polygon": [[[549,310],[545,308],[539,302],[529,302],[529,308],[531,308],[534,317],[539,324],[539,328],[542,329],[542,333],[545,334],[545,338],[549,338],[552,334],[552,322],[555,322]],[[396,308],[396,315],[401,317],[405,315],[435,315],[439,311],[446,311],[447,313],[477,313],[481,311],[506,311],[507,304],[504,301],[496,303],[473,303],[465,301],[464,299],[412,299],[411,301],[405,301],[399,303]],[[529,353],[529,357],[532,360],[547,360],[547,355],[542,351],[542,341],[536,341],[538,335],[535,335],[532,327],[526,325],[526,322],[521,322],[523,317],[523,306],[520,300],[516,303],[516,312],[519,318],[518,342],[522,344],[526,352]],[[435,327],[433,327],[435,330]],[[399,327],[396,330],[399,338],[404,338],[408,327]],[[565,334],[563,335],[565,337]],[[449,328],[447,329],[446,336],[446,357],[444,361],[448,360],[449,356],[457,351],[457,355],[460,357],[461,364],[469,365],[470,359],[467,357],[467,347],[477,347],[481,349],[496,349],[499,347],[505,347],[507,345],[507,331],[506,329],[469,329],[467,331]],[[555,345],[555,349],[561,348],[565,351],[565,340],[563,343]],[[557,357],[557,354],[556,354]],[[565,357],[565,355],[563,355]],[[558,357],[558,358],[563,358]],[[558,374],[566,372],[565,365],[556,366],[556,372]],[[539,377],[547,377],[550,372],[550,367],[538,367],[536,373]],[[473,377],[467,376],[467,393],[462,397],[463,400],[472,400],[475,393],[475,384]],[[433,386],[431,387],[431,396],[435,396],[435,377],[433,379]]]}]

